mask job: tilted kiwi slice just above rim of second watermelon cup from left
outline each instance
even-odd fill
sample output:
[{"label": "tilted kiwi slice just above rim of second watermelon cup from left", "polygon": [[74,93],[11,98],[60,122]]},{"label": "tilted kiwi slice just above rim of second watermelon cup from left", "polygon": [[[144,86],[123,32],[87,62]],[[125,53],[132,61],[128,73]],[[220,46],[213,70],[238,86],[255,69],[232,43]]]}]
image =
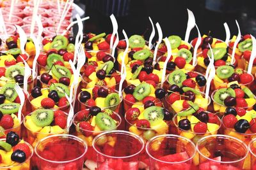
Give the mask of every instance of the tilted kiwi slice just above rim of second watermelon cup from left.
[{"label": "tilted kiwi slice just above rim of second watermelon cup from left", "polygon": [[102,112],[96,115],[95,124],[101,131],[109,131],[116,128],[116,123],[113,118],[109,117],[107,113]]}]

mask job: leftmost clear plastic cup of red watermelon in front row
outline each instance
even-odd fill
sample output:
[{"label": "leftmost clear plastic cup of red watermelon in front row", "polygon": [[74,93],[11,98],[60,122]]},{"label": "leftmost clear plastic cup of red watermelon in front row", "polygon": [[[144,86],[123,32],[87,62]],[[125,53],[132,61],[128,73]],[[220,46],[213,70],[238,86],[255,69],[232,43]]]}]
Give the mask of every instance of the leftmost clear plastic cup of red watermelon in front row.
[{"label": "leftmost clear plastic cup of red watermelon in front row", "polygon": [[87,145],[76,136],[58,134],[44,138],[35,146],[37,169],[83,169]]}]

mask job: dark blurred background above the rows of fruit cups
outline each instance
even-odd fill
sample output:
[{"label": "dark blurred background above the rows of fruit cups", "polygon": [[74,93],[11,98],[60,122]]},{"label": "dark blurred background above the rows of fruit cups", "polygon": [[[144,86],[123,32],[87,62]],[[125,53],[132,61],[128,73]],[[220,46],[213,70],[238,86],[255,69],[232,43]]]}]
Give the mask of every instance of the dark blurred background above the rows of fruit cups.
[{"label": "dark blurred background above the rows of fruit cups", "polygon": [[[150,16],[154,24],[159,22],[164,37],[179,35],[184,39],[188,8],[193,11],[201,34],[209,34],[211,31],[211,36],[225,40],[223,24],[227,22],[232,38],[234,34],[237,35],[237,20],[242,35],[256,35],[253,0],[77,0],[76,3],[85,10],[86,16],[90,16],[90,20],[84,23],[84,30],[96,34],[113,31],[109,18],[113,13],[118,22],[120,36],[122,29],[125,29],[128,36],[140,34],[148,39],[152,31],[148,20]],[[196,36],[194,28],[189,39]]]}]

